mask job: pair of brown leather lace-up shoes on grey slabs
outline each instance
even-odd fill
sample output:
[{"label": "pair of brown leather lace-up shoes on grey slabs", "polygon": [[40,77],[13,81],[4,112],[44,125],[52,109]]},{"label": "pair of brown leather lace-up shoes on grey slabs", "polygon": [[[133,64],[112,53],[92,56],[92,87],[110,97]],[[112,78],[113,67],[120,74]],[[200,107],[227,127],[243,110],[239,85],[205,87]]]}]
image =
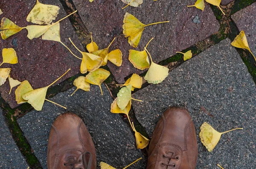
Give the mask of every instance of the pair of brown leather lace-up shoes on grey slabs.
[{"label": "pair of brown leather lace-up shoes on grey slabs", "polygon": [[[154,130],[147,169],[195,169],[198,146],[189,113],[170,107]],[[59,115],[53,122],[47,149],[48,169],[96,169],[92,138],[81,118]]]}]

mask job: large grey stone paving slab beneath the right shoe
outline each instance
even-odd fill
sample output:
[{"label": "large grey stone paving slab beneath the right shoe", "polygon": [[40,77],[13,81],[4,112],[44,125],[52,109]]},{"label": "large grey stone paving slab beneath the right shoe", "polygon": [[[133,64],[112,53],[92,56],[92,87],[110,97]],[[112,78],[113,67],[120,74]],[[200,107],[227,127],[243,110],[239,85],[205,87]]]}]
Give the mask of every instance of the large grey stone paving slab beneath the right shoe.
[{"label": "large grey stone paving slab beneath the right shoe", "polygon": [[[256,86],[231,41],[198,54],[172,70],[158,85],[133,94],[135,115],[151,137],[160,115],[169,106],[186,107],[198,138],[197,169],[254,169],[256,165]],[[208,122],[219,132],[244,127],[221,136],[213,152],[199,139]],[[171,130],[171,129],[170,129]]]}]

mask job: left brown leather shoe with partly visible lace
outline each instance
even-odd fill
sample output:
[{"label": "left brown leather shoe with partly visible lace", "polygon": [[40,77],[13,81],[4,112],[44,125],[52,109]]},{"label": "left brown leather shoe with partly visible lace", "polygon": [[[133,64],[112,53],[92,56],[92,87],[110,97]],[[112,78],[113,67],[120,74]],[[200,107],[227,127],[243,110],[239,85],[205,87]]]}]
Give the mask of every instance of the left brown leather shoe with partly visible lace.
[{"label": "left brown leather shoe with partly visible lace", "polygon": [[47,166],[48,169],[96,169],[93,141],[79,116],[64,113],[53,122]]}]

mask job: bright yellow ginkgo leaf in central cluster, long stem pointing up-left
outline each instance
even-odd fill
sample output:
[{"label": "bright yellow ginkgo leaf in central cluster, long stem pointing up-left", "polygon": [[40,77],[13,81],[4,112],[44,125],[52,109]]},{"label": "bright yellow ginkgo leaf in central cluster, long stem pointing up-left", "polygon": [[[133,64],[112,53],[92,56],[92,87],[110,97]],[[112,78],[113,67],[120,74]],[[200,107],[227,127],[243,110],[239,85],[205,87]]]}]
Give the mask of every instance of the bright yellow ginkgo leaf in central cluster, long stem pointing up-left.
[{"label": "bright yellow ginkgo leaf in central cluster, long stem pointing up-left", "polygon": [[[93,72],[102,65],[103,59],[100,56],[97,56],[95,54],[90,54],[87,52],[82,52],[76,47],[76,45],[72,42],[71,39],[70,39],[70,42],[83,55],[83,59],[82,59],[81,66],[80,66],[81,73],[84,74],[84,73],[87,73],[87,71]],[[79,58],[79,59],[81,59],[81,58]]]}]

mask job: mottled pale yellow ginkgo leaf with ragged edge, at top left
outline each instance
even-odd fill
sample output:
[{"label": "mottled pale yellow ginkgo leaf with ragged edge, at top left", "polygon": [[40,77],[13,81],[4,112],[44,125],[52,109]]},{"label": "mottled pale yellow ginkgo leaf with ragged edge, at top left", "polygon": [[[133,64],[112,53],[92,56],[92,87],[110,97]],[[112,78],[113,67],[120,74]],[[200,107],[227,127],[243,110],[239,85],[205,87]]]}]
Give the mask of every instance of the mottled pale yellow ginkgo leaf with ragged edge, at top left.
[{"label": "mottled pale yellow ginkgo leaf with ragged edge, at top left", "polygon": [[39,25],[48,25],[55,20],[60,8],[55,5],[46,5],[36,0],[34,8],[30,11],[26,20]]}]

